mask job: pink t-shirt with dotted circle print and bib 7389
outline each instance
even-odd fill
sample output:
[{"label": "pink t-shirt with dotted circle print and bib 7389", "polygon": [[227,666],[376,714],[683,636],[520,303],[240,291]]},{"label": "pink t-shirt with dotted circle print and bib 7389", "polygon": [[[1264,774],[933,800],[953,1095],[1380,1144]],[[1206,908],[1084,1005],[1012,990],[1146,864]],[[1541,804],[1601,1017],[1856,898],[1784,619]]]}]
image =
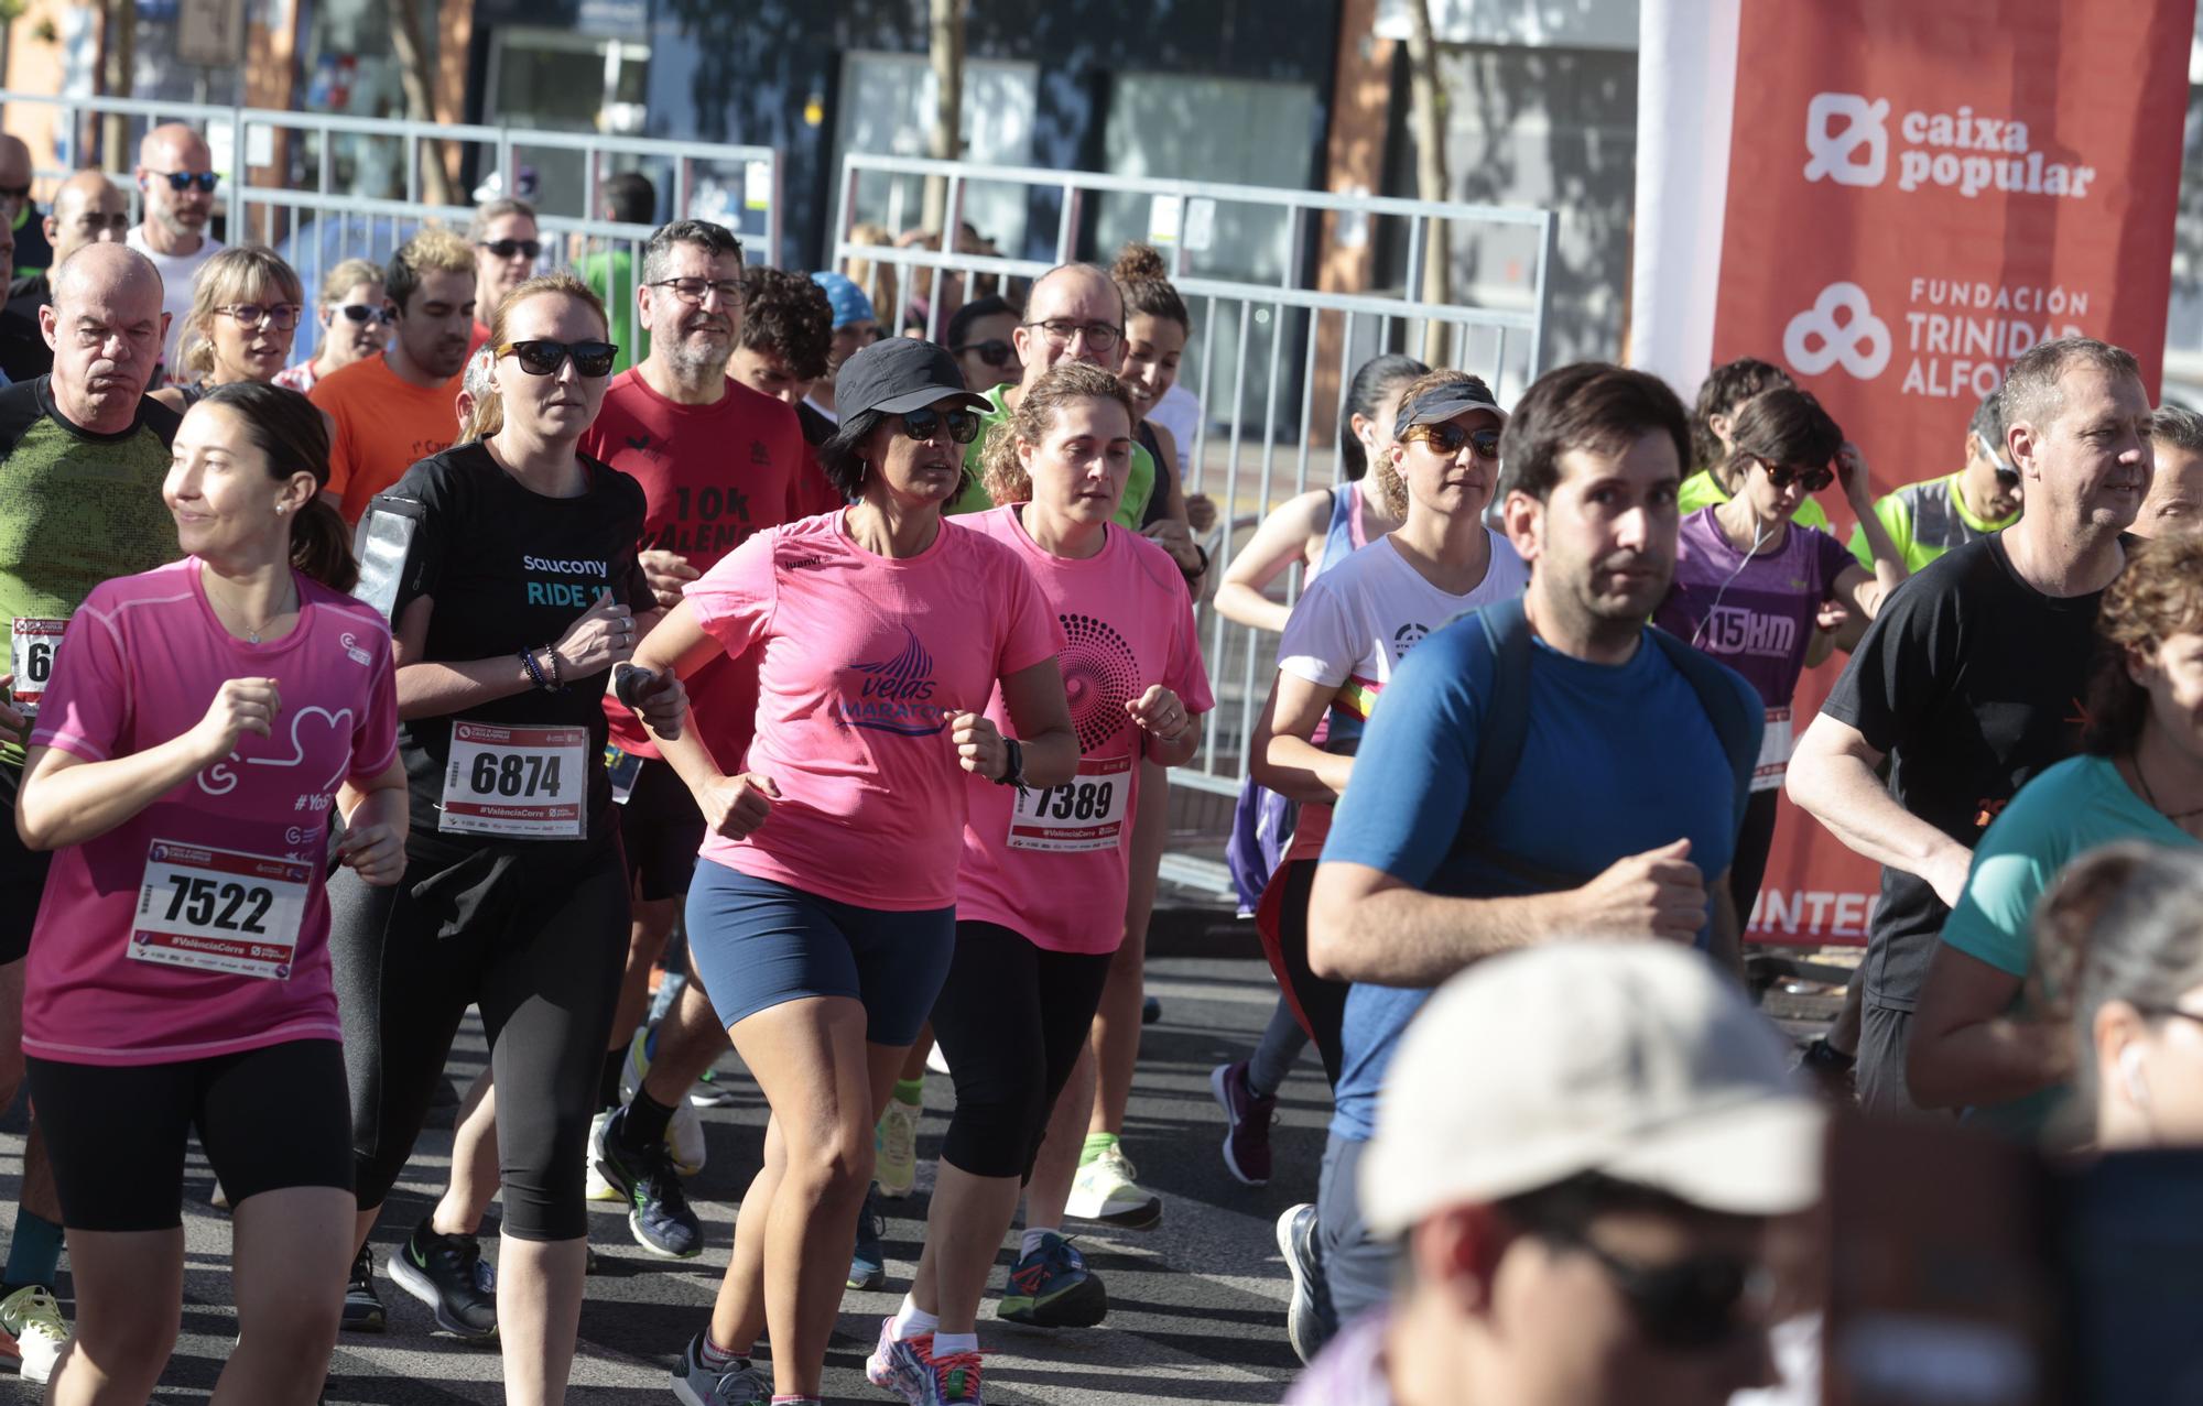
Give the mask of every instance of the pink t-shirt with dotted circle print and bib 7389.
[{"label": "pink t-shirt with dotted circle print and bib 7389", "polygon": [[[1161,683],[1187,712],[1216,707],[1185,577],[1161,547],[1115,527],[1099,553],[1073,562],[1035,547],[1016,507],[958,520],[1024,560],[1064,628],[1079,774],[1064,787],[1027,787],[1022,798],[965,774],[956,917],[1022,932],[1051,952],[1115,952],[1148,736],[1124,705]],[[1009,732],[1000,690],[987,716]]]}]

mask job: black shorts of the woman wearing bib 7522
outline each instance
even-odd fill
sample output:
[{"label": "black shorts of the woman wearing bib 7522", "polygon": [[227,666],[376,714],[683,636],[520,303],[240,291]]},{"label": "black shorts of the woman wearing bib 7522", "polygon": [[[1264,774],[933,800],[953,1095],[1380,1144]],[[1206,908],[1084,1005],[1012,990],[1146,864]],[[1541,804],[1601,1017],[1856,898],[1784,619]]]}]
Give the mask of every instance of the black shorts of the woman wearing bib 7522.
[{"label": "black shorts of the woman wearing bib 7522", "polygon": [[352,1190],[344,1049],[289,1040],[176,1064],[26,1060],[68,1230],[183,1225],[196,1128],[231,1205],[291,1186]]}]

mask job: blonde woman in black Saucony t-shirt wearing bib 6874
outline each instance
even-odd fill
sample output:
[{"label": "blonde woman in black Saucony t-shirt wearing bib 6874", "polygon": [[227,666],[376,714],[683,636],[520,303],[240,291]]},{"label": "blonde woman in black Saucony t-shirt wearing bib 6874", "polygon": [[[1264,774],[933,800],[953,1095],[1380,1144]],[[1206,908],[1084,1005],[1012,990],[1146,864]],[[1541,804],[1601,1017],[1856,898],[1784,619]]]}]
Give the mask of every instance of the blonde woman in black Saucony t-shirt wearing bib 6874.
[{"label": "blonde woman in black Saucony t-shirt wearing bib 6874", "polygon": [[[579,280],[516,289],[476,405],[487,439],[414,465],[363,527],[361,597],[397,621],[399,751],[412,796],[405,877],[330,886],[330,950],[352,1091],[366,1245],[412,1155],[469,1005],[482,1007],[504,1186],[498,1302],[469,1234],[432,1219],[392,1278],[449,1331],[493,1322],[509,1402],[555,1402],[573,1364],[588,1214],[590,1089],[628,921],[606,681],[634,648],[643,494],[577,452],[612,370]],[[654,688],[648,707],[679,701]],[[357,1269],[355,1269],[357,1272]]]}]

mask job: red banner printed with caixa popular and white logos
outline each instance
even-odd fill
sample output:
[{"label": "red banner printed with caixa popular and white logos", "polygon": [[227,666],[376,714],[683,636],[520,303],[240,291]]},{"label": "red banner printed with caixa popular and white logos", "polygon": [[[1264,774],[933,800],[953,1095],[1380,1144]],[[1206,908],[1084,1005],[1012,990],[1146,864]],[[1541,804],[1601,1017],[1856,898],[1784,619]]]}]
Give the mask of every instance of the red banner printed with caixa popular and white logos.
[{"label": "red banner printed with caixa popular and white logos", "polygon": [[[2049,337],[2126,346],[2155,394],[2192,33],[2194,0],[1743,0],[1712,361],[1787,366],[1877,494],[1956,469]],[[1751,937],[1864,941],[1877,890],[1784,802]]]}]

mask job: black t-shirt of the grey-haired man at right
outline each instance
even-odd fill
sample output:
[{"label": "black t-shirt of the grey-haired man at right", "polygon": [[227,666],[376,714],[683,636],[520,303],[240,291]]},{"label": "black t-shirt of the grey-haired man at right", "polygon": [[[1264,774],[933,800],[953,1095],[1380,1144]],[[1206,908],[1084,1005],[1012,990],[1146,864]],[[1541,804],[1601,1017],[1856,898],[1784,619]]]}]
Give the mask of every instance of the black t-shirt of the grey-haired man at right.
[{"label": "black t-shirt of the grey-haired man at right", "polygon": [[[1897,804],[1972,848],[2029,778],[2080,749],[2102,599],[2042,595],[2000,536],[1956,547],[1890,595],[1822,712],[1890,756]],[[1912,1009],[1947,917],[1925,882],[1881,870],[1877,1005]]]}]

